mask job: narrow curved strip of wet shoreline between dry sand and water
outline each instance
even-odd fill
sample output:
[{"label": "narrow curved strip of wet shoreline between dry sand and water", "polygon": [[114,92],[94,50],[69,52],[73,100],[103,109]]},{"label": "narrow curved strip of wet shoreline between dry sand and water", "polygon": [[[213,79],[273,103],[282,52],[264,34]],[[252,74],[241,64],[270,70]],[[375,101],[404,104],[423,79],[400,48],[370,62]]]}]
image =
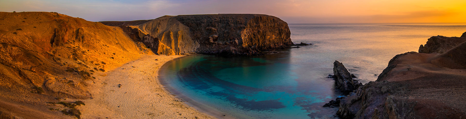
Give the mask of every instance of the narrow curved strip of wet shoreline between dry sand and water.
[{"label": "narrow curved strip of wet shoreline between dry sand and water", "polygon": [[[199,56],[201,54],[192,54],[192,55]],[[162,65],[160,67],[160,69],[166,69],[168,63],[176,62],[176,60],[179,60],[180,58],[183,58],[183,57],[185,57],[185,56],[181,56],[181,57],[172,59],[172,60],[170,60],[168,62],[165,62],[164,65]],[[213,116],[216,119],[236,119],[236,118],[232,117],[232,115],[230,115],[230,114],[227,114],[227,113],[220,112],[220,111],[217,111],[215,109],[212,109],[212,107],[207,106],[207,105],[203,105],[202,103],[199,103],[196,100],[194,100],[194,99],[184,95],[183,93],[179,92],[178,90],[176,90],[175,88],[170,86],[166,81],[164,81],[164,79],[166,79],[166,78],[164,78],[163,74],[164,74],[164,70],[158,70],[158,82],[163,87],[163,90],[165,92],[169,93],[172,98],[179,99],[179,100],[181,100],[183,102],[183,104],[185,104],[185,106],[191,107],[192,109],[195,109],[195,110],[197,110],[199,112],[202,112],[202,113],[205,113],[207,115]],[[226,116],[223,116],[223,115],[226,115]]]}]

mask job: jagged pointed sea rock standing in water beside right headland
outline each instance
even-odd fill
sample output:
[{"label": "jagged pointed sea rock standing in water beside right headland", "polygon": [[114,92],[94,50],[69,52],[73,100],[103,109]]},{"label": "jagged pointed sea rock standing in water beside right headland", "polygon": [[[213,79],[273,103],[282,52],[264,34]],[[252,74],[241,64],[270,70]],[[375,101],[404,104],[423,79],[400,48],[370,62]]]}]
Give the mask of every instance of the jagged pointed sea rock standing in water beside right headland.
[{"label": "jagged pointed sea rock standing in water beside right headland", "polygon": [[356,79],[353,79],[354,75],[350,74],[343,63],[338,61],[333,63],[333,74],[336,89],[342,91],[343,94],[348,94],[363,85],[362,83],[358,83]]}]

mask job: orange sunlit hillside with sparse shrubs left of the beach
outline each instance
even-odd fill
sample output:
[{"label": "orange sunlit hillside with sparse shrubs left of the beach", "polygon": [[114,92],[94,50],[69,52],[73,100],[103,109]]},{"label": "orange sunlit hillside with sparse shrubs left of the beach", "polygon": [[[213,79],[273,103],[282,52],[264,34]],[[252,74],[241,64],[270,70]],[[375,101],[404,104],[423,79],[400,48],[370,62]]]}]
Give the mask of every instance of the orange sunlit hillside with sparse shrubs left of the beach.
[{"label": "orange sunlit hillside with sparse shrubs left of the beach", "polygon": [[58,13],[0,12],[0,113],[63,118],[50,114],[61,112],[49,111],[48,106],[57,107],[46,102],[92,97],[85,82],[137,59],[147,50],[138,46],[121,28],[99,22]]}]

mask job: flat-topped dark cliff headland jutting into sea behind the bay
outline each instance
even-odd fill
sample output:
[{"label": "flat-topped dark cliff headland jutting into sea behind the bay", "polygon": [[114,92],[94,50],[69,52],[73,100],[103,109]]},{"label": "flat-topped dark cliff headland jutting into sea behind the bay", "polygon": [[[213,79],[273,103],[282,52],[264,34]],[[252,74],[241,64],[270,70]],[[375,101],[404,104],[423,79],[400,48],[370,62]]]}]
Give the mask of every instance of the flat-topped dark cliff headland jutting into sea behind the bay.
[{"label": "flat-topped dark cliff headland jutting into sea behind the bay", "polygon": [[[288,24],[277,17],[264,14],[178,15],[146,21],[101,23],[123,29],[126,27],[126,32],[139,35],[132,37],[135,39],[141,39],[145,35],[153,36],[158,40],[150,48],[159,55],[189,52],[260,55],[263,54],[261,51],[289,48],[293,45]],[[155,44],[158,46],[155,47]]]}]

